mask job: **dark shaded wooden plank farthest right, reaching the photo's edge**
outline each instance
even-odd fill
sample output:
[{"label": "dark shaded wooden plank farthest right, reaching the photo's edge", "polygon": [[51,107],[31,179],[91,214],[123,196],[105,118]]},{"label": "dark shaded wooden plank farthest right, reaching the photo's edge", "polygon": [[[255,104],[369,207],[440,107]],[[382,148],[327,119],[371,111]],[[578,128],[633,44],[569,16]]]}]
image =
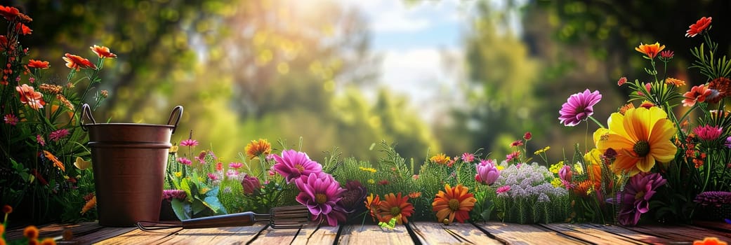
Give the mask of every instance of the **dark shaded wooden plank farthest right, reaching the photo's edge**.
[{"label": "dark shaded wooden plank farthest right, reaching the photo's edge", "polygon": [[695,240],[703,240],[708,236],[720,238],[723,241],[731,241],[731,234],[719,232],[716,230],[708,230],[706,228],[694,226],[678,226],[678,225],[645,225],[637,227],[627,227],[629,230],[635,230],[640,233],[652,236],[668,238],[675,242],[693,242]]}]

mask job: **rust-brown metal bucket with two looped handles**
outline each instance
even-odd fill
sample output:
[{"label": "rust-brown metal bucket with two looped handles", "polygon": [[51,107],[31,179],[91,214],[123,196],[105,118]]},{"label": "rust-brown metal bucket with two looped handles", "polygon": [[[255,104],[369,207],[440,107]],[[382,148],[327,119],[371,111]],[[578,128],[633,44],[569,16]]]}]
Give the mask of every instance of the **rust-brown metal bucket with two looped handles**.
[{"label": "rust-brown metal bucket with two looped handles", "polygon": [[82,107],[82,117],[91,122],[82,128],[89,132],[99,225],[157,221],[170,136],[178,128],[183,106],[175,106],[166,125],[96,123],[88,104]]}]

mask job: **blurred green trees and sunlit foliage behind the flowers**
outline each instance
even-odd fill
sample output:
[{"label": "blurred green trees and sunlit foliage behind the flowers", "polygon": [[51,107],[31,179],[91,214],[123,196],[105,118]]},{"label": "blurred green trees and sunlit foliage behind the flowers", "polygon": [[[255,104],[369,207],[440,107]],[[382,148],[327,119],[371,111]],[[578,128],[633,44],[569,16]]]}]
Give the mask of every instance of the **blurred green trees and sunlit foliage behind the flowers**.
[{"label": "blurred green trees and sunlit foliage behind the flowers", "polygon": [[[164,123],[173,106],[182,105],[173,140],[193,131],[200,148],[230,161],[251,140],[286,139],[295,147],[300,136],[315,160],[333,147],[374,160],[371,144],[381,140],[398,144],[398,152],[417,163],[438,152],[455,156],[478,148],[503,159],[510,142],[526,131],[534,136],[529,152],[550,146],[550,157],[558,161],[563,149],[570,156],[573,144],[583,148],[586,132],[596,128],[558,123],[561,104],[572,93],[599,90],[604,98],[594,117],[605,121],[626,100],[627,90],[616,86],[619,77],[648,79],[642,71],[648,63],[634,50],[640,42],[675,51],[668,72],[689,86],[706,81],[686,69],[688,50],[700,42],[684,36],[688,26],[711,16],[721,52],[728,53],[731,43],[726,0],[3,4],[34,18],[33,34],[23,42],[31,47],[30,58],[50,61],[52,82],[65,82],[65,52],[91,58],[88,47],[99,44],[118,55],[102,71],[98,89],[109,90],[110,97],[94,112],[97,121]],[[420,61],[388,56],[374,40],[398,41],[396,48],[405,49],[430,37],[409,39],[406,33],[389,40],[374,31],[384,28],[376,20],[408,29],[419,22],[388,18],[390,7],[438,13],[443,5],[456,18],[457,41],[430,48],[444,51],[439,69],[448,76],[388,80],[401,72],[385,75],[389,67]],[[435,26],[455,23],[442,16],[420,18]],[[423,96],[424,90],[432,92]]]}]

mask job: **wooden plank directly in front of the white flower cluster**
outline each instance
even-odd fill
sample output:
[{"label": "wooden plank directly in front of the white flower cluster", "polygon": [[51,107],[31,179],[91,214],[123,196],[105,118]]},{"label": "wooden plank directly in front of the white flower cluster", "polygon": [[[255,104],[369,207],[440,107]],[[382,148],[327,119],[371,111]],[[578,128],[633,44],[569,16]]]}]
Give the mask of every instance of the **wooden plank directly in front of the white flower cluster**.
[{"label": "wooden plank directly in front of the white flower cluster", "polygon": [[505,244],[588,244],[586,241],[536,225],[501,222],[477,223],[475,225]]}]

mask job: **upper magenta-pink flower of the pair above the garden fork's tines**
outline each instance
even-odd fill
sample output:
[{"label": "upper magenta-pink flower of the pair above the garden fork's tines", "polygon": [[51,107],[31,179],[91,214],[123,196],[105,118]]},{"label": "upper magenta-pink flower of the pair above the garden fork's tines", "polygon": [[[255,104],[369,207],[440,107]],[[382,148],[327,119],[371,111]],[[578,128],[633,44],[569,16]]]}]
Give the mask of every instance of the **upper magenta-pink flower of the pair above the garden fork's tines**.
[{"label": "upper magenta-pink flower of the pair above the garden fork's tines", "polygon": [[276,160],[273,166],[274,171],[284,176],[284,179],[287,179],[287,183],[292,182],[294,179],[299,179],[300,176],[307,179],[307,176],[310,174],[319,175],[322,173],[322,166],[319,163],[310,160],[307,153],[298,152],[294,149],[282,151],[281,157],[274,155],[274,160]]}]

